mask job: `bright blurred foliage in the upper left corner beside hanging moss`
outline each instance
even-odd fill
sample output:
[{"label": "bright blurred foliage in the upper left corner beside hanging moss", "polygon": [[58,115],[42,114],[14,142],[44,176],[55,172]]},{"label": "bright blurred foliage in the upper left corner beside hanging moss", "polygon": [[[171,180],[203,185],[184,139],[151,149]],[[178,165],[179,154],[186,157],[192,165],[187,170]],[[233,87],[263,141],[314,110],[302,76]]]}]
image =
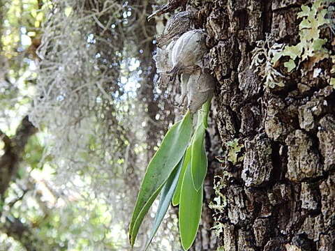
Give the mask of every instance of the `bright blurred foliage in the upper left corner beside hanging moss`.
[{"label": "bright blurred foliage in the upper left corner beside hanging moss", "polygon": [[[43,20],[45,5],[41,3],[38,6],[37,0],[1,2],[0,17],[3,18],[0,20],[0,113],[6,112],[1,117],[8,117],[9,111],[15,111],[18,119],[22,110],[29,107],[36,81],[33,70],[36,63],[32,60],[35,47],[32,43],[39,41],[40,26],[34,25],[36,16],[31,13],[40,13]],[[12,125],[9,127],[15,128]]]}]

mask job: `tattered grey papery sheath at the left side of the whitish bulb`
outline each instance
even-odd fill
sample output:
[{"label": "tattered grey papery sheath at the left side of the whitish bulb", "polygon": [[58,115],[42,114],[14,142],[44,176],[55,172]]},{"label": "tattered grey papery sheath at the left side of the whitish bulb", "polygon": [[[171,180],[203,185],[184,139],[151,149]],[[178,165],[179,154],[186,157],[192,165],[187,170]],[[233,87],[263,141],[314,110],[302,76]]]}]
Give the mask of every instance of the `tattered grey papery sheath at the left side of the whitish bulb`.
[{"label": "tattered grey papery sheath at the left side of the whitish bulb", "polygon": [[157,73],[168,73],[172,69],[172,48],[176,41],[172,42],[165,48],[157,47],[154,61],[156,62]]}]

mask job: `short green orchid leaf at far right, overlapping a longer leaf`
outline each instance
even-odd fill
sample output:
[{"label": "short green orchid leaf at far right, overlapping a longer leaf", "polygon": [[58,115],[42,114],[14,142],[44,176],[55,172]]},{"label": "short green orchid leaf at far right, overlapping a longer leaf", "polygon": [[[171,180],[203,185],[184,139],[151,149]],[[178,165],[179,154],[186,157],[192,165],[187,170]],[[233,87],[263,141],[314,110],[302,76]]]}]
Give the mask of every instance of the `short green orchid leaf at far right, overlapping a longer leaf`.
[{"label": "short green orchid leaf at far right, overlapping a longer leaf", "polygon": [[207,174],[207,154],[204,149],[204,133],[206,129],[203,124],[195,131],[191,146],[191,172],[195,190],[199,190],[204,183]]}]

